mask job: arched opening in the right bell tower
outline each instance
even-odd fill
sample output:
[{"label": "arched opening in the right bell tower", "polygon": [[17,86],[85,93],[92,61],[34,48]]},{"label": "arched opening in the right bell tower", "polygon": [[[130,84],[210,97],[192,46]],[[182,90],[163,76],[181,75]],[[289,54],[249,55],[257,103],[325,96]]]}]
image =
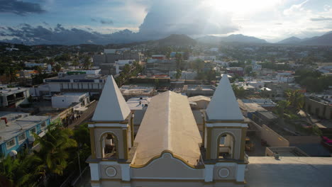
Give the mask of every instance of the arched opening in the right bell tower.
[{"label": "arched opening in the right bell tower", "polygon": [[218,137],[218,159],[234,159],[235,137],[223,133]]}]

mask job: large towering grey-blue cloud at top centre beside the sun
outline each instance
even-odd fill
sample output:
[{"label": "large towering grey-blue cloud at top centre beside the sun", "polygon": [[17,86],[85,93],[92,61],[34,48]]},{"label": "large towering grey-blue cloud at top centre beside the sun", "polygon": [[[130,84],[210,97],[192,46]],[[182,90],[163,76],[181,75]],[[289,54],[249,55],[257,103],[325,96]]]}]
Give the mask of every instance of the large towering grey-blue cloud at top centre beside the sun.
[{"label": "large towering grey-blue cloud at top centre beside the sun", "polygon": [[154,1],[139,33],[155,38],[170,34],[226,34],[238,30],[223,11],[212,11],[201,1]]}]

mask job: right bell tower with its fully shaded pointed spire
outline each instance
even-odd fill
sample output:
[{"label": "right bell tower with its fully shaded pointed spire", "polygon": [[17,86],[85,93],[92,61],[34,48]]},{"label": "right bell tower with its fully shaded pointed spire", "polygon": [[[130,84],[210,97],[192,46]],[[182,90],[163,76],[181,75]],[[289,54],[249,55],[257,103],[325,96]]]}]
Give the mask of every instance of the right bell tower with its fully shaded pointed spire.
[{"label": "right bell tower with its fully shaded pointed spire", "polygon": [[247,128],[227,74],[223,74],[204,116],[205,159],[219,166],[224,162],[235,164],[233,172],[239,182],[244,180],[244,166],[248,163],[245,161]]}]

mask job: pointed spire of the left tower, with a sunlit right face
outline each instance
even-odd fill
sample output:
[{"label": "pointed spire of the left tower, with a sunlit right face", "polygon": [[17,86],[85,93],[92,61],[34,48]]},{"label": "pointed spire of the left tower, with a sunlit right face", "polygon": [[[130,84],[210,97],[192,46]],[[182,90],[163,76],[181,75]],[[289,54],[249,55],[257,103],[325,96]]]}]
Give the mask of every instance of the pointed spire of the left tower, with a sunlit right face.
[{"label": "pointed spire of the left tower, with a sunlit right face", "polygon": [[112,76],[107,77],[92,120],[122,121],[128,117],[129,113],[131,113],[131,109],[118,89],[116,81]]}]

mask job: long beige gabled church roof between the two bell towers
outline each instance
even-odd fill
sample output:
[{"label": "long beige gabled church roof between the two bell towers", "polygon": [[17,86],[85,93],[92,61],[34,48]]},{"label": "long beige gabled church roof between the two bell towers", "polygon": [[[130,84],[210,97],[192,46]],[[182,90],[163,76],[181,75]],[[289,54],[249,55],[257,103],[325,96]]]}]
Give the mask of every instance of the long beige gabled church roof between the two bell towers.
[{"label": "long beige gabled church roof between the two bell towers", "polygon": [[143,166],[168,150],[184,162],[197,165],[201,135],[186,96],[166,91],[154,96],[135,137],[138,147],[131,164]]}]

